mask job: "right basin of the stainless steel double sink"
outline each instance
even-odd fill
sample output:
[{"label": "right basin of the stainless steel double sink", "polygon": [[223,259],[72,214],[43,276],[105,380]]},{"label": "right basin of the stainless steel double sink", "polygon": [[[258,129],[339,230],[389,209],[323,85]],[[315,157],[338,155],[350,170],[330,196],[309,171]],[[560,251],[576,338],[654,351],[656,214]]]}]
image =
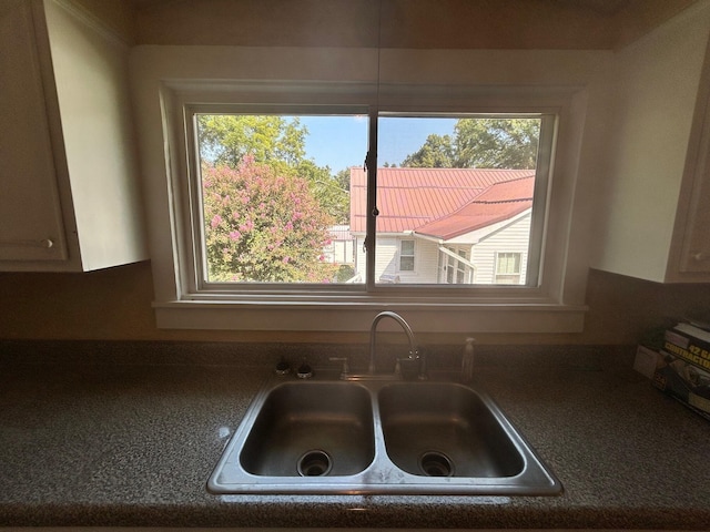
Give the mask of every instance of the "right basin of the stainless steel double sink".
[{"label": "right basin of the stainless steel double sink", "polygon": [[387,456],[402,470],[425,477],[515,477],[523,454],[470,388],[413,382],[379,390]]}]

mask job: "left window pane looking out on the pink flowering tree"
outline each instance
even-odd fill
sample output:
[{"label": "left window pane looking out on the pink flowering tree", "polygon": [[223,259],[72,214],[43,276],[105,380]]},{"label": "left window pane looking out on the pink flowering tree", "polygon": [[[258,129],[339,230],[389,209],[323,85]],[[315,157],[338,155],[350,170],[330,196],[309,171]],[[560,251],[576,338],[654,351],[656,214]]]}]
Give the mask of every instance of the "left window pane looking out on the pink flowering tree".
[{"label": "left window pane looking out on the pink flowering tree", "polygon": [[349,181],[366,117],[196,114],[195,131],[204,280],[365,282]]}]

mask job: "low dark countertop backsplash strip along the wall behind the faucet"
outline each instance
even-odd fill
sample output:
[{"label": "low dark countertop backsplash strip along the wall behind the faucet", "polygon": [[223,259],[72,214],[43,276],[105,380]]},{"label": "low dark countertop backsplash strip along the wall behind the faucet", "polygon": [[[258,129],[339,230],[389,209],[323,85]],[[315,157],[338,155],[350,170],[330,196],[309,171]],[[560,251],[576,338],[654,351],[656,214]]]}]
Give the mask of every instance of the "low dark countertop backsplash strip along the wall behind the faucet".
[{"label": "low dark countertop backsplash strip along the wall behind the faucet", "polygon": [[[463,345],[423,346],[429,369],[458,369]],[[285,342],[197,342],[122,340],[0,340],[2,365],[197,365],[263,367],[271,371],[283,357],[295,369],[305,357],[317,369],[336,370],[341,362],[331,357],[347,357],[353,368],[366,368],[366,344],[285,344]],[[597,371],[604,368],[630,368],[636,346],[476,346],[475,366],[535,365],[565,366]],[[395,358],[406,354],[404,344],[377,346],[377,364],[394,368]],[[408,369],[405,365],[405,371]]]}]

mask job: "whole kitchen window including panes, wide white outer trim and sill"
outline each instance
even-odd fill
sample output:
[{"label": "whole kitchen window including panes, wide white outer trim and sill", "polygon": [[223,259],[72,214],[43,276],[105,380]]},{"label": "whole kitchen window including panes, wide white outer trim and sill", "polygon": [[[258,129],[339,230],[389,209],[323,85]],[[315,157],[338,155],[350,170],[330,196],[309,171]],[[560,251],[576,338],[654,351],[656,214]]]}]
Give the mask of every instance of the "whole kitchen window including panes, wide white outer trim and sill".
[{"label": "whole kitchen window including panes, wide white outer trim and sill", "polygon": [[[581,268],[570,269],[576,264],[568,260],[578,247],[568,242],[575,146],[584,123],[578,112],[584,106],[572,105],[576,89],[546,93],[544,86],[520,88],[493,98],[464,85],[443,91],[438,85],[378,89],[369,82],[339,80],[209,81],[225,80],[217,65],[232,76],[246,75],[231,66],[226,50],[215,52],[195,80],[189,80],[180,61],[163,63],[136,52],[134,68],[142,76],[136,81],[136,116],[145,154],[159,327],[364,331],[372,317],[387,308],[402,313],[422,332],[580,330],[585,276]],[[296,59],[288,71],[295,72],[296,65],[320,68],[315,60],[297,59],[302,52],[293,51],[290,58]],[[243,53],[251,57],[253,51]],[[263,53],[271,58],[264,64],[283,62],[280,54]],[[246,64],[236,61],[240,68]],[[337,64],[347,69],[357,63]],[[244,66],[244,72],[252,66]],[[312,74],[301,66],[298,72]],[[258,79],[257,73],[250,75]],[[277,146],[270,153],[256,146],[230,161],[223,149],[231,141],[217,124],[225,119],[277,123],[294,137],[305,129],[305,142],[316,139],[323,124],[348,124],[357,133],[338,136],[331,131],[315,144],[357,155],[341,164],[311,147],[290,152]],[[459,164],[463,157],[454,153],[470,147],[457,139],[457,125],[464,130],[466,122],[483,120],[534,124],[537,144],[528,152],[534,166],[495,168],[500,178],[489,175],[483,182],[457,178],[491,170],[470,161]],[[248,135],[237,145],[254,144],[261,134],[256,127],[245,131]],[[405,139],[415,132],[416,142]],[[285,142],[288,136],[280,139]],[[225,161],[229,171],[219,168]],[[425,180],[427,171],[437,180],[445,173],[448,177],[432,184]],[[297,191],[278,180],[271,187],[248,190],[247,183],[258,180],[244,180],[260,176],[263,184],[294,173],[301,178]],[[232,188],[215,194],[214,187],[222,186],[217,177],[226,174],[234,177]],[[521,195],[520,187],[516,195],[506,195],[504,188],[524,181],[530,194]],[[416,196],[417,186],[426,193]],[[296,192],[307,192],[308,200],[296,200]],[[250,202],[260,193],[277,200],[271,211],[263,200],[257,211],[252,209]],[[338,195],[348,203],[341,211],[335,208]],[[465,202],[452,202],[457,197]],[[294,208],[304,201],[311,207],[307,216]],[[509,203],[525,206],[510,213]],[[226,209],[220,212],[222,207]],[[347,218],[341,216],[344,212]],[[485,223],[476,224],[481,216]],[[485,280],[477,247],[510,238],[507,228],[523,216],[530,221],[526,231],[516,226],[516,237],[528,252],[523,255],[524,284]],[[301,239],[306,246],[294,247],[296,222],[317,229]]]}]

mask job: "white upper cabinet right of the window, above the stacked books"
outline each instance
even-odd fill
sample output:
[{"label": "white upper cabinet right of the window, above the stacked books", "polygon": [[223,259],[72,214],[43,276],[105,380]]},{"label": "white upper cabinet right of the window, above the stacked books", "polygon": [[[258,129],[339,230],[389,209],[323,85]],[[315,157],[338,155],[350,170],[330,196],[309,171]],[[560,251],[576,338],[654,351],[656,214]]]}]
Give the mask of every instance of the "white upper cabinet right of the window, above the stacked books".
[{"label": "white upper cabinet right of the window, above the stacked books", "polygon": [[616,53],[591,266],[710,282],[710,2]]}]

